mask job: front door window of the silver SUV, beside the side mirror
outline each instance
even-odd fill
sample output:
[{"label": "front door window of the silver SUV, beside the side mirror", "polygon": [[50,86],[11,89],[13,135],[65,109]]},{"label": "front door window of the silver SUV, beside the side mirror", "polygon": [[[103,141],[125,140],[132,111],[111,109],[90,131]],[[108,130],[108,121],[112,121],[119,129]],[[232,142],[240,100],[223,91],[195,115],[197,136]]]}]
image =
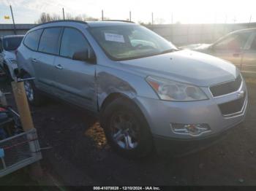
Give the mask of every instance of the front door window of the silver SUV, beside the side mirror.
[{"label": "front door window of the silver SUV, beside the side mirror", "polygon": [[72,58],[75,52],[85,52],[89,48],[89,43],[75,28],[65,28],[61,40],[60,55]]}]

